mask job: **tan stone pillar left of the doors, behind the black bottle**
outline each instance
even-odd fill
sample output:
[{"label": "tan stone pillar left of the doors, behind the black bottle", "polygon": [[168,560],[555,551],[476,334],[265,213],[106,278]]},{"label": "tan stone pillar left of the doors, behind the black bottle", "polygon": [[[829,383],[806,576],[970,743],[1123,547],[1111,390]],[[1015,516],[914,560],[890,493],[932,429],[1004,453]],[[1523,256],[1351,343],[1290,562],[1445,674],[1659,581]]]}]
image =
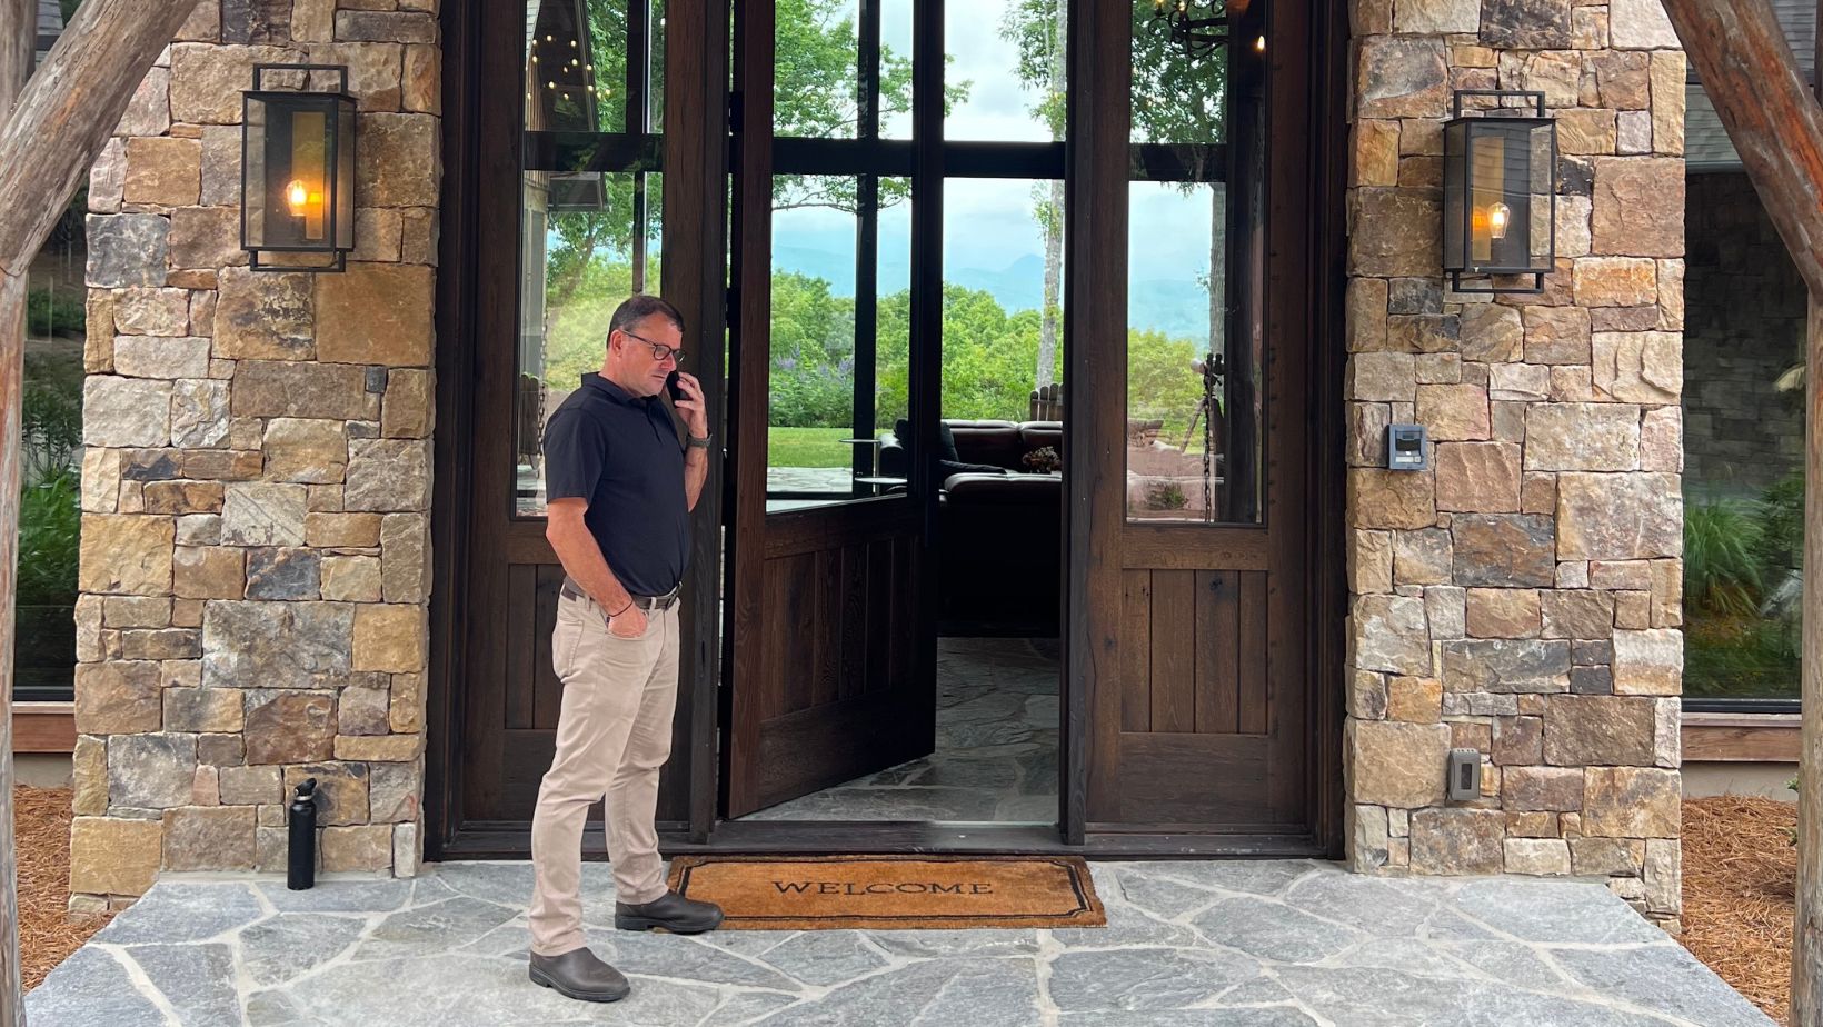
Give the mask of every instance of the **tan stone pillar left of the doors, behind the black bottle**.
[{"label": "tan stone pillar left of the doors, behind the black bottle", "polygon": [[[255,62],[350,66],[357,248],[239,248]],[[89,182],[71,905],[160,870],[284,866],[323,783],[324,870],[421,852],[438,0],[210,0]]]}]

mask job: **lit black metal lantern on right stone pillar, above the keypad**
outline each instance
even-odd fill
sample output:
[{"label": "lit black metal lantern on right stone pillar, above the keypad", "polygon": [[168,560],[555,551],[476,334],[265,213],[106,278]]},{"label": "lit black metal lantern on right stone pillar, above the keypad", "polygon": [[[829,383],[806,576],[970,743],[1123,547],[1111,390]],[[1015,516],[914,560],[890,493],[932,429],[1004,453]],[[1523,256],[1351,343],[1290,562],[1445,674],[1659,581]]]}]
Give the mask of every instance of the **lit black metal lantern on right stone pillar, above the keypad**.
[{"label": "lit black metal lantern on right stone pillar, above the keypad", "polygon": [[[1464,97],[1519,99],[1462,113]],[[1444,122],[1444,270],[1457,292],[1544,292],[1557,257],[1557,122],[1544,93],[1458,89]],[[1531,275],[1531,285],[1497,277]],[[1464,286],[1464,279],[1482,285]]]}]

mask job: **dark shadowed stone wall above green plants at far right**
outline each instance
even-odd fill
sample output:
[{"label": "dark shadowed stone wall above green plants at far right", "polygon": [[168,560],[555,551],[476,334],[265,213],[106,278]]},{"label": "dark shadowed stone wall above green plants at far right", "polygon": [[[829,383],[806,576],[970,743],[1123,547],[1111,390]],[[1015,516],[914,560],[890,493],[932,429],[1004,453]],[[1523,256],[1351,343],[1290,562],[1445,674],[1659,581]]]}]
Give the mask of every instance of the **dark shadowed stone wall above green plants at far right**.
[{"label": "dark shadowed stone wall above green plants at far right", "polygon": [[1690,175],[1684,469],[1692,494],[1757,498],[1805,469],[1805,281],[1746,171]]}]

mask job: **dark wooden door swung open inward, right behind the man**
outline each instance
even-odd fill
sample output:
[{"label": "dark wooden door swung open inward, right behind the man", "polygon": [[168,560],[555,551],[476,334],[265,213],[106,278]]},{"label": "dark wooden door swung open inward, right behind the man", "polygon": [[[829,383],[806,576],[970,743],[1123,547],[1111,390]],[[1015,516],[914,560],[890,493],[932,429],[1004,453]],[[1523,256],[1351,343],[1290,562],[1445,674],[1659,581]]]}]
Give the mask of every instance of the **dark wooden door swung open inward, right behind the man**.
[{"label": "dark wooden door swung open inward, right behind the man", "polygon": [[[910,221],[915,208],[922,223],[939,206],[922,190],[930,179],[913,148],[881,140],[879,13],[870,15],[871,7],[862,4],[855,62],[859,95],[871,100],[846,139],[791,137],[808,130],[775,124],[773,4],[742,4],[736,13],[726,817],[935,746],[932,483],[915,458],[926,447],[921,438],[897,440],[912,456],[891,476],[882,474],[879,440],[895,425],[919,425],[901,434],[933,436],[939,343],[924,305],[913,299],[910,312],[881,310],[875,283],[882,219]],[[915,108],[913,120],[930,122],[930,113]],[[775,219],[806,212],[833,223],[837,241],[846,237],[842,221],[851,221],[853,248],[840,254],[853,257],[851,317],[813,323],[795,296],[775,303],[775,283],[798,281],[784,274],[788,261],[775,259]],[[890,235],[912,239],[912,296],[935,296],[921,286],[941,275],[935,252],[924,252],[933,248],[921,243],[930,233],[908,228],[893,226]],[[777,394],[775,372],[798,359],[795,347],[809,345],[824,352],[853,347],[850,410],[806,414]],[[882,367],[904,370],[897,398],[877,396]]]}]

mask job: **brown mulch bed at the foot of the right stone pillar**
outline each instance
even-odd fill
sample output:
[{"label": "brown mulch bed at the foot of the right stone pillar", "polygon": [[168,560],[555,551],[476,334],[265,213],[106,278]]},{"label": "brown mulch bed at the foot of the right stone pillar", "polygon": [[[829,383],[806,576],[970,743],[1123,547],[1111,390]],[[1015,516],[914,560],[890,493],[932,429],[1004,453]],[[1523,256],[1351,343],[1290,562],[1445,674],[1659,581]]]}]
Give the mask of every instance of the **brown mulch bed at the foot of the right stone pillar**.
[{"label": "brown mulch bed at the foot of the right stone pillar", "polygon": [[1794,803],[1684,801],[1679,941],[1777,1023],[1785,1023],[1792,985],[1794,826]]}]

